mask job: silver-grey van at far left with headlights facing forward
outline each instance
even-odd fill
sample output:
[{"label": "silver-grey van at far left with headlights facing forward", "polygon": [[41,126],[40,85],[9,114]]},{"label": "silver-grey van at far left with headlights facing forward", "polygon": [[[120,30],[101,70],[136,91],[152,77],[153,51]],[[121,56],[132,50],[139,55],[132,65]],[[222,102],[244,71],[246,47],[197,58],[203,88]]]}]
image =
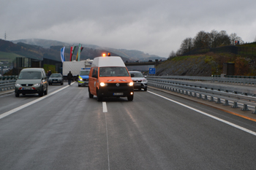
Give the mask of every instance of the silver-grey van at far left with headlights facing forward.
[{"label": "silver-grey van at far left with headlights facing forward", "polygon": [[48,81],[44,69],[22,69],[15,83],[15,96],[38,93],[39,96],[47,95]]}]

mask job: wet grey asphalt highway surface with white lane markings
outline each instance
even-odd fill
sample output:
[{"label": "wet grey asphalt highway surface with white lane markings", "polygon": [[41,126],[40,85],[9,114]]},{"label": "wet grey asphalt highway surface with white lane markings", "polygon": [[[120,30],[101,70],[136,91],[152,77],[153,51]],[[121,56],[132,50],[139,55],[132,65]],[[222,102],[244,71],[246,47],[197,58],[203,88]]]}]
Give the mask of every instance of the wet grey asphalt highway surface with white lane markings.
[{"label": "wet grey asphalt highway surface with white lane markings", "polygon": [[255,169],[256,123],[154,88],[0,96],[0,169]]}]

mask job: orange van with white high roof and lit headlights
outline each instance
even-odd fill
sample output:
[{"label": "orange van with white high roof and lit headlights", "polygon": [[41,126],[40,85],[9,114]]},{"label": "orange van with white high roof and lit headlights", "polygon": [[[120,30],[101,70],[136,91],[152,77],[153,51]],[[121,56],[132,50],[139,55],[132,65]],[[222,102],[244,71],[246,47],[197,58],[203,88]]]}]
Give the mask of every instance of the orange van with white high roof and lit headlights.
[{"label": "orange van with white high roof and lit headlights", "polygon": [[133,100],[133,82],[124,61],[118,56],[94,58],[89,74],[89,98],[127,97]]}]

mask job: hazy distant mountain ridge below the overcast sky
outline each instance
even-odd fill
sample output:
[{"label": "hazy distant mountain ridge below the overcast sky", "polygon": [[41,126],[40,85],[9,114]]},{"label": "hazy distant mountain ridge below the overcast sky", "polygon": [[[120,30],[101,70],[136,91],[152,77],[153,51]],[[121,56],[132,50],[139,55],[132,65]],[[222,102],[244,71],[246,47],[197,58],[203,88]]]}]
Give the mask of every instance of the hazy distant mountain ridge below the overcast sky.
[{"label": "hazy distant mountain ridge below the overcast sky", "polygon": [[[59,42],[56,40],[48,40],[48,39],[18,39],[12,42],[13,43],[23,42],[28,45],[37,45],[43,48],[50,48],[52,46],[64,46],[70,49],[70,47],[73,45],[67,42]],[[78,43],[75,45],[78,46]],[[137,60],[148,61],[149,59],[166,59],[166,58],[159,57],[158,55],[149,55],[148,53],[143,53],[142,51],[139,51],[139,50],[114,49],[109,47],[99,47],[97,45],[83,45],[83,47],[86,47],[87,49],[92,48],[95,50],[105,50],[110,53],[115,53],[116,55],[119,55],[123,58],[128,58],[127,59],[128,61],[137,61]]]}]

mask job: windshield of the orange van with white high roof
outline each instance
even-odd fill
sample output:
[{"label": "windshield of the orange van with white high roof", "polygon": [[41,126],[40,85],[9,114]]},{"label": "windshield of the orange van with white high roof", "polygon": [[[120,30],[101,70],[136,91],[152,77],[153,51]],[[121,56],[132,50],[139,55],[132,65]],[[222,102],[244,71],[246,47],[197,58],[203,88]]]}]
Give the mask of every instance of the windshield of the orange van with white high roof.
[{"label": "windshield of the orange van with white high roof", "polygon": [[99,77],[129,77],[126,67],[100,67]]}]

